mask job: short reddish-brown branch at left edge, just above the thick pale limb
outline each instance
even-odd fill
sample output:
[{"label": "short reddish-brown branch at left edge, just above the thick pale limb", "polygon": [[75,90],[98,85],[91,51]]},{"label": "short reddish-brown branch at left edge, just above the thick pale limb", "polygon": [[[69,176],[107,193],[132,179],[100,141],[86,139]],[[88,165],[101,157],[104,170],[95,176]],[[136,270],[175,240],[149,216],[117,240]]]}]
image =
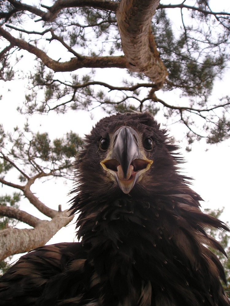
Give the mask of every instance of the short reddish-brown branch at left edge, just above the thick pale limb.
[{"label": "short reddish-brown branch at left edge, just above the thick pale limb", "polygon": [[0,205],[0,215],[17,219],[33,227],[35,227],[41,221],[39,218],[28,214],[26,211],[22,211],[20,209],[6,205]]}]

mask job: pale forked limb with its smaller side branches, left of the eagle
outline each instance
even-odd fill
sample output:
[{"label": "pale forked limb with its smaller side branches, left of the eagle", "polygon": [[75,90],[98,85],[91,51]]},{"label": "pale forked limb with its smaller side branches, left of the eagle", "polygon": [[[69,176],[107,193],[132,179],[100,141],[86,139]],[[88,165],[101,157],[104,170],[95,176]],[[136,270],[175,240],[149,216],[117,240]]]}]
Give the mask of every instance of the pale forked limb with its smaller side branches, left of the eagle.
[{"label": "pale forked limb with its smaller side branches, left of the eagle", "polygon": [[[10,159],[7,157],[4,157],[4,159],[7,159],[16,167]],[[21,172],[19,168],[17,169]],[[70,216],[70,211],[66,210],[62,212],[61,207],[59,207],[59,211],[47,207],[29,189],[37,178],[48,175],[50,174],[45,174],[44,172],[39,173],[34,177],[29,178],[25,186],[16,185],[0,178],[0,183],[23,191],[25,197],[31,204],[33,204],[41,213],[52,218],[50,221],[40,220],[25,211],[0,205],[0,215],[15,218],[33,227],[33,229],[7,228],[0,231],[0,261],[10,255],[28,252],[33,248],[44,245],[53,237],[54,234],[74,218],[74,215]]]}]

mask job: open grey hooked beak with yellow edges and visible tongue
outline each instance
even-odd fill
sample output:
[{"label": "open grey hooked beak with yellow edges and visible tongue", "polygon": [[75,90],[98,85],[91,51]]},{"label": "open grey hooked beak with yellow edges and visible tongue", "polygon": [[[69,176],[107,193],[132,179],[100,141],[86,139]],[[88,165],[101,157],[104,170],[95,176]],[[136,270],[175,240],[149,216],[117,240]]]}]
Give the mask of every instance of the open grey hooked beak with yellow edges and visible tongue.
[{"label": "open grey hooked beak with yellow edges and visible tongue", "polygon": [[101,161],[110,178],[116,181],[124,193],[129,193],[136,182],[142,179],[153,161],[148,159],[138,146],[138,135],[128,126],[119,128],[113,136],[113,150]]}]

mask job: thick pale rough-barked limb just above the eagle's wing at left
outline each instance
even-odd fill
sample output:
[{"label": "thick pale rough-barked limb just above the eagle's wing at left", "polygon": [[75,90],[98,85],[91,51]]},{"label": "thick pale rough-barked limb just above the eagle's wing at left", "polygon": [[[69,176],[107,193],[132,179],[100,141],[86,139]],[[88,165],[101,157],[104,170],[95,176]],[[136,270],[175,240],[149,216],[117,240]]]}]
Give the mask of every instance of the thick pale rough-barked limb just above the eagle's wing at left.
[{"label": "thick pale rough-barked limb just above the eagle's wing at left", "polygon": [[12,254],[28,252],[47,243],[54,234],[66,226],[74,216],[68,211],[57,212],[51,221],[43,220],[34,229],[12,229],[0,231],[0,261]]}]

